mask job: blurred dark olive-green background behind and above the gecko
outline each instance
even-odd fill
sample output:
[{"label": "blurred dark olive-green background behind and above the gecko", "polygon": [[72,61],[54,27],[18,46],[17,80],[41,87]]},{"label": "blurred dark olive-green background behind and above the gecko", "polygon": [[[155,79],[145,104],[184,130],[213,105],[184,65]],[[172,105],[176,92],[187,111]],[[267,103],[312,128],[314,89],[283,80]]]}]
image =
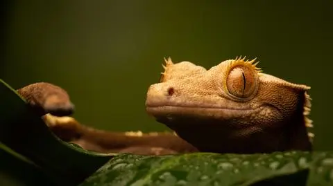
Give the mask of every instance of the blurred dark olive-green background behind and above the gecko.
[{"label": "blurred dark olive-green background behind and above the gecko", "polygon": [[62,86],[74,117],[92,127],[165,131],[144,106],[163,57],[206,68],[258,57],[265,73],[311,86],[315,148],[333,149],[328,2],[8,1],[0,77],[15,89]]}]

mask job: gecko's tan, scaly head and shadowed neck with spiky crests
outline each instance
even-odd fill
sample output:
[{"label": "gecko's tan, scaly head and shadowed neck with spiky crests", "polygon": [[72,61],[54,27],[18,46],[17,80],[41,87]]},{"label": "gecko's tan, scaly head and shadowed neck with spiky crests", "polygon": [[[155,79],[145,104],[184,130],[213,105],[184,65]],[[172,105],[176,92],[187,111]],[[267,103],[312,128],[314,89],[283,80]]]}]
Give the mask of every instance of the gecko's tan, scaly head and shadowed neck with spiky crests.
[{"label": "gecko's tan, scaly head and shadowed neck with spiky crests", "polygon": [[146,111],[199,151],[310,151],[309,86],[262,73],[245,58],[206,70],[165,60],[148,89]]}]

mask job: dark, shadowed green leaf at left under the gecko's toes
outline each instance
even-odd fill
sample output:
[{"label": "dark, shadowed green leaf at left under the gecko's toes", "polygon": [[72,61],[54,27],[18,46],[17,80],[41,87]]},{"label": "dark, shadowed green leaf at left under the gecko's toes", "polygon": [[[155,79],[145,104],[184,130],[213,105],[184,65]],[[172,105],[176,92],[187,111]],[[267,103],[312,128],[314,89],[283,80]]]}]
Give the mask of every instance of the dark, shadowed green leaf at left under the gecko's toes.
[{"label": "dark, shadowed green leaf at left under the gecko's toes", "polygon": [[0,103],[0,142],[26,156],[48,174],[56,175],[56,180],[66,180],[68,185],[80,183],[112,158],[59,140],[2,80]]}]

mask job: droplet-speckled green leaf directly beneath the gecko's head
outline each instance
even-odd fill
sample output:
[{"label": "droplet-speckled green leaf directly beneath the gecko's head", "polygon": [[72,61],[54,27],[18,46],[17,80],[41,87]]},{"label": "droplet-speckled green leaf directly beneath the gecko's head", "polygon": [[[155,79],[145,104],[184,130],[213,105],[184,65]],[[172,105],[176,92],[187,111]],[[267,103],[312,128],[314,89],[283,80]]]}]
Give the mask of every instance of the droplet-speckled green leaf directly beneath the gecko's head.
[{"label": "droplet-speckled green leaf directly beneath the gecko's head", "polygon": [[[91,185],[305,185],[311,154],[184,154],[115,156],[80,186]],[[274,178],[279,177],[275,180]],[[295,180],[297,182],[295,182]]]}]

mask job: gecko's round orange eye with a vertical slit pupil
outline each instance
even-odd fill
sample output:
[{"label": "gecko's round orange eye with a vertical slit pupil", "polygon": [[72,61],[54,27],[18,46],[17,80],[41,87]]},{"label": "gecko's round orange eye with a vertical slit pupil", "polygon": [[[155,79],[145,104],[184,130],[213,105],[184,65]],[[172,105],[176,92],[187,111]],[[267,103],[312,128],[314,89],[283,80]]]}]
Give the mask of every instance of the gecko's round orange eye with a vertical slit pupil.
[{"label": "gecko's round orange eye with a vertical slit pupil", "polygon": [[235,66],[227,77],[227,89],[230,94],[246,98],[255,91],[255,72],[246,66]]}]

